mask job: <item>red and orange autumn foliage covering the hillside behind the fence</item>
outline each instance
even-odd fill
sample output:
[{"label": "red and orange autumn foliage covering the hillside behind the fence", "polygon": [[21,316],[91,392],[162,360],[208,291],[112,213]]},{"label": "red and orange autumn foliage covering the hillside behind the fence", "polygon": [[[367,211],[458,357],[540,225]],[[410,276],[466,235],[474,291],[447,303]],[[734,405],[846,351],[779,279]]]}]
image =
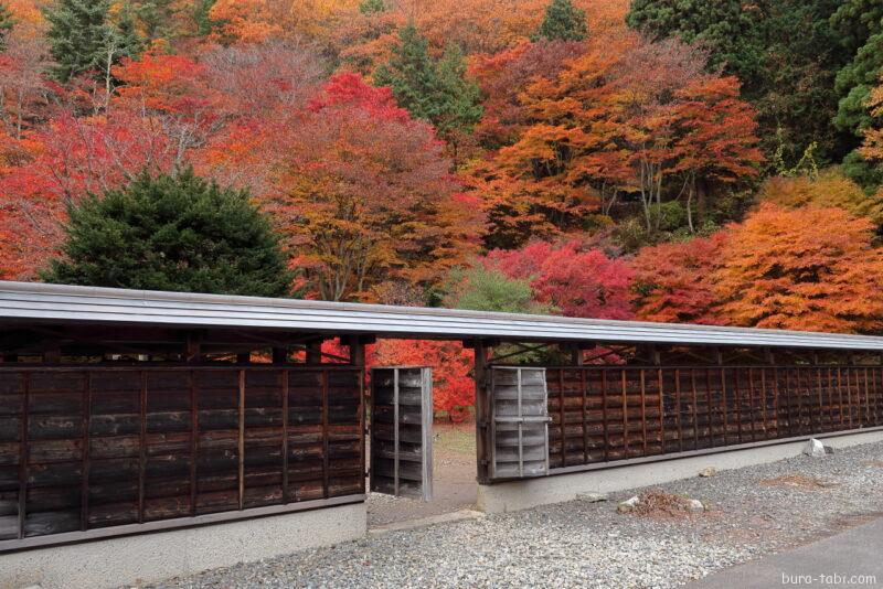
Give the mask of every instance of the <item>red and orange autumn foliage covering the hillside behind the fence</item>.
[{"label": "red and orange autumn foliage covering the hillside behind the fence", "polygon": [[[629,29],[628,0],[573,0],[585,28],[552,40],[550,0],[175,0],[138,2],[128,24],[115,2],[104,17],[127,52],[64,83],[46,75],[64,31],[35,0],[7,4],[4,279],[36,279],[89,194],[192,168],[247,189],[307,298],[883,328],[883,83],[841,137],[861,142],[858,173],[828,165],[830,144],[791,161],[794,128],[758,130],[779,103],[758,101],[756,79],[719,46]],[[783,73],[781,92],[815,67]],[[455,103],[468,108],[433,116]],[[470,357],[381,342],[370,360],[434,366],[436,408],[456,414]]]}]

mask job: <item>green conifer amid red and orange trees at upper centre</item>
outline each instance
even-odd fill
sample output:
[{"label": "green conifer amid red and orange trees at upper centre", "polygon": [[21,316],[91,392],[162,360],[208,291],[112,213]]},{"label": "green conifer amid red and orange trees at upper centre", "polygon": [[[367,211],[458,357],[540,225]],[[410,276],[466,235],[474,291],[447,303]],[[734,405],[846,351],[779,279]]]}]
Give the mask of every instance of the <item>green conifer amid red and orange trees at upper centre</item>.
[{"label": "green conifer amid red and orange trees at upper centre", "polygon": [[434,60],[413,24],[400,32],[400,44],[390,63],[375,72],[374,83],[390,86],[401,107],[432,122],[446,139],[457,131],[469,132],[481,118],[478,86],[466,77],[462,52],[450,45],[440,60]]}]

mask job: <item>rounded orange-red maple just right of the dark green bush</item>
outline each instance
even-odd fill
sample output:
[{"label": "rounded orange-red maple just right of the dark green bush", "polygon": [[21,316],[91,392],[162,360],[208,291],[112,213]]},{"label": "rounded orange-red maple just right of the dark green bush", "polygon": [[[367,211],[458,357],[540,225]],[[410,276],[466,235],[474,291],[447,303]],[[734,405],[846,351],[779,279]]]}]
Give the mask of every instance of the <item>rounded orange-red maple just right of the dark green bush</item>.
[{"label": "rounded orange-red maple just right of the dark green bush", "polygon": [[389,88],[332,77],[287,147],[264,202],[319,297],[373,300],[387,280],[429,288],[472,250],[475,197]]}]

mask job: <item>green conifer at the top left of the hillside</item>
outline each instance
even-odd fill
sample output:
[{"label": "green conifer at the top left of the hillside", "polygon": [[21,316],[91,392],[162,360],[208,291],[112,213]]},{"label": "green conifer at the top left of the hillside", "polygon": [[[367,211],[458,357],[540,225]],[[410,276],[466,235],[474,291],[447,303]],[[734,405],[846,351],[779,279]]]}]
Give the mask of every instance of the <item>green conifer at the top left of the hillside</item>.
[{"label": "green conifer at the top left of the hillside", "polygon": [[109,10],[109,0],[58,0],[44,10],[55,79],[67,82],[89,71],[106,76],[108,61],[137,54],[140,41],[134,41],[137,35],[131,14],[124,10],[119,23],[114,23]]}]

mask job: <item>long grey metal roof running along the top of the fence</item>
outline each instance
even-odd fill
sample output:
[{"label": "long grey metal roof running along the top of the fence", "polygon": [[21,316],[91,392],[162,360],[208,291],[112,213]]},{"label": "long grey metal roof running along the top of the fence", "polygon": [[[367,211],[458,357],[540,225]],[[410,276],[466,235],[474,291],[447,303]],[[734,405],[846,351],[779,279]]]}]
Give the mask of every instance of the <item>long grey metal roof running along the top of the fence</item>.
[{"label": "long grey metal roof running along the top of the fence", "polygon": [[883,351],[883,338],[0,281],[0,323],[260,328],[379,338]]}]

